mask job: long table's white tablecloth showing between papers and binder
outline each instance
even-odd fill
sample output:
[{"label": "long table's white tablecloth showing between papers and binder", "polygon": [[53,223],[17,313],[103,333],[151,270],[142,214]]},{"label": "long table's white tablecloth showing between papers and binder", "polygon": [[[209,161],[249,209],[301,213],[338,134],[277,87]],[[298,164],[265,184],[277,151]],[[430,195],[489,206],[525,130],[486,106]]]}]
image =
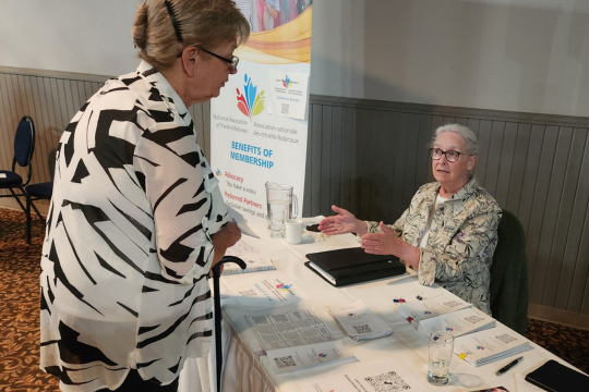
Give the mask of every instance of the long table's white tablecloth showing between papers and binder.
[{"label": "long table's white tablecloth showing between papers and binder", "polygon": [[[308,222],[317,222],[320,218],[305,219]],[[524,354],[524,362],[504,376],[495,376],[495,370],[505,365],[509,359],[498,360],[481,367],[473,367],[456,355],[450,365],[450,380],[445,387],[434,387],[425,380],[428,369],[429,339],[400,317],[394,304],[394,298],[404,297],[407,302],[418,301],[417,295],[430,298],[443,295],[447,291],[441,286],[423,286],[419,284],[413,271],[394,278],[381,279],[362,284],[344,287],[334,287],[326,283],[313,271],[304,267],[305,255],[309,253],[333,250],[346,247],[359,246],[359,242],[352,234],[324,236],[324,240],[315,241],[304,236],[298,245],[288,244],[285,240],[272,240],[265,223],[251,224],[260,238],[243,236],[243,240],[256,247],[259,252],[272,257],[279,271],[285,271],[294,283],[302,285],[312,301],[280,307],[280,311],[293,311],[298,309],[346,305],[361,299],[394,333],[387,338],[381,338],[365,343],[356,343],[350,338],[341,340],[346,350],[360,362],[372,362],[381,358],[396,358],[411,368],[412,376],[420,381],[418,391],[473,391],[483,388],[505,387],[510,392],[517,391],[513,373],[528,373],[544,364],[548,359],[555,359],[566,366],[570,366],[555,355],[539,345],[531,343],[533,350]],[[272,273],[272,272],[257,272]],[[231,277],[232,278],[232,277]],[[223,286],[228,279],[221,278],[221,291],[229,293],[227,286]],[[247,315],[267,314],[268,310],[252,313],[239,304],[236,297],[221,297],[225,319],[225,371],[224,391],[227,392],[254,392],[254,391],[280,391],[280,392],[308,392],[301,391],[294,373],[276,375],[267,356],[251,327],[247,322]],[[498,323],[498,321],[497,321]],[[512,358],[513,359],[513,358]],[[214,388],[214,359],[190,359],[180,378],[181,392],[213,391]],[[329,365],[322,365],[329,369]],[[337,365],[333,365],[335,367]],[[209,371],[211,369],[212,371]],[[202,377],[209,372],[209,377]],[[304,370],[303,370],[304,371]],[[201,375],[201,376],[200,376]]]}]

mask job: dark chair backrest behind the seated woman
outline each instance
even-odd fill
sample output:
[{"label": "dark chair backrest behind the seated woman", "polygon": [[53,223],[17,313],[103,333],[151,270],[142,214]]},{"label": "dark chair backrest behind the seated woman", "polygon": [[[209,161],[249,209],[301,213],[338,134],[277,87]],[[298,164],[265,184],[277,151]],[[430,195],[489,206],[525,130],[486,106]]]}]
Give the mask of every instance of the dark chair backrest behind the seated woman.
[{"label": "dark chair backrest behind the seated woman", "polygon": [[503,210],[497,237],[491,265],[491,313],[525,335],[529,297],[526,234],[512,212]]}]

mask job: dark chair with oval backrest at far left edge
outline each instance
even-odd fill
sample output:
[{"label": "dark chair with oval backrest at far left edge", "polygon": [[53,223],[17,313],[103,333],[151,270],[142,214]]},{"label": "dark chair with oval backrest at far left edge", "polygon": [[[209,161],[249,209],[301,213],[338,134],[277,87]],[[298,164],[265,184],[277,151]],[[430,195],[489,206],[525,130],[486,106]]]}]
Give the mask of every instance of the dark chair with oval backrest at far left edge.
[{"label": "dark chair with oval backrest at far left edge", "polygon": [[[14,197],[23,211],[26,213],[26,207],[21,203],[19,197],[26,196],[24,187],[31,181],[31,159],[35,151],[35,125],[33,119],[24,115],[16,127],[14,136],[14,157],[12,159],[12,170],[0,170],[0,189],[9,189],[9,195],[0,195],[0,197]],[[15,172],[16,163],[22,168],[27,168],[26,179]],[[14,192],[15,189],[20,193]],[[31,224],[31,219],[27,215],[27,225]]]}]

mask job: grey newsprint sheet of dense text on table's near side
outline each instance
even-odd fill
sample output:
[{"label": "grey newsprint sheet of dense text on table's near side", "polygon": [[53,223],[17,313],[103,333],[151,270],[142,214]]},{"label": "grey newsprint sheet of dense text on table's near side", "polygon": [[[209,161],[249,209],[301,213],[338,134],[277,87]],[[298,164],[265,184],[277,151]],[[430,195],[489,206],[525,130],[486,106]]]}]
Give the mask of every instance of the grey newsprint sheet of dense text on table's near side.
[{"label": "grey newsprint sheet of dense text on table's near side", "polygon": [[333,342],[344,338],[341,333],[335,336],[334,333],[338,331],[328,328],[325,320],[325,317],[329,317],[327,311],[323,310],[323,317],[317,311],[321,313],[321,309],[245,316],[245,319],[266,351]]}]

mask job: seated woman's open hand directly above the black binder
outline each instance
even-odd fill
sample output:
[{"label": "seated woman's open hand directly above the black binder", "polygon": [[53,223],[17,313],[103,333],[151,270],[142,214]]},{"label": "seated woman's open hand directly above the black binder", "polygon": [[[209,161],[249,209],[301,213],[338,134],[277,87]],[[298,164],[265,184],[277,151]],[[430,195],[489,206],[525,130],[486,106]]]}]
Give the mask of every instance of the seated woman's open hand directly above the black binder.
[{"label": "seated woman's open hand directly above the black binder", "polygon": [[362,236],[360,247],[372,255],[394,255],[410,264],[413,269],[419,267],[420,252],[397,236],[397,233],[381,222],[382,233],[369,233]]}]

